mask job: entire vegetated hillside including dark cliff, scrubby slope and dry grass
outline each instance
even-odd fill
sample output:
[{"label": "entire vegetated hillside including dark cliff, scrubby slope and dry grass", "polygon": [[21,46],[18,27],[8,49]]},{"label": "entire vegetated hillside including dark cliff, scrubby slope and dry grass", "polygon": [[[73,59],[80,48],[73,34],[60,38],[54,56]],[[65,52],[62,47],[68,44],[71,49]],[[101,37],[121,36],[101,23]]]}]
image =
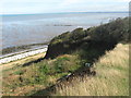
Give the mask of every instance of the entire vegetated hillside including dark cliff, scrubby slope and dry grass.
[{"label": "entire vegetated hillside including dark cliff, scrubby slope and dry grass", "polygon": [[[129,41],[128,20],[118,19],[85,30],[76,28],[55,37],[49,44],[45,59],[3,71],[2,94],[128,95],[128,46],[119,45],[111,51],[118,42]],[[109,54],[106,54],[108,51]],[[99,59],[100,57],[103,58]],[[96,68],[95,76],[91,74],[92,69],[85,66],[86,63]],[[58,81],[70,73],[73,75],[69,79]],[[105,91],[108,87],[109,90]]]}]

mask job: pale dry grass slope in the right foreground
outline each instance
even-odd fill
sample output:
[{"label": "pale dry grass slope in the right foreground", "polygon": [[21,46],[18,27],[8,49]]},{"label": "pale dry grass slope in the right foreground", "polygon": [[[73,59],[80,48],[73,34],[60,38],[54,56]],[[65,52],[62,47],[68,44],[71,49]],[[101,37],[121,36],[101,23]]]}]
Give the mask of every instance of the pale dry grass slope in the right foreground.
[{"label": "pale dry grass slope in the right foreground", "polygon": [[55,96],[129,96],[129,45],[119,44],[95,64],[97,75],[57,87]]}]

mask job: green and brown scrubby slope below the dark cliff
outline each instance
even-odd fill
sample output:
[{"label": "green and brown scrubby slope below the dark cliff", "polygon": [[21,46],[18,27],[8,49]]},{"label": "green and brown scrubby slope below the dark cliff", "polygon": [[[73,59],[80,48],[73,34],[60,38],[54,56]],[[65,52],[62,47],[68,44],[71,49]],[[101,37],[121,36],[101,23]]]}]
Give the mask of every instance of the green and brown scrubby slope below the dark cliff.
[{"label": "green and brown scrubby slope below the dark cliff", "polygon": [[[53,60],[43,60],[23,66],[23,63],[3,71],[3,96],[31,95],[80,68],[76,56],[64,54]],[[15,63],[13,63],[15,64]]]}]

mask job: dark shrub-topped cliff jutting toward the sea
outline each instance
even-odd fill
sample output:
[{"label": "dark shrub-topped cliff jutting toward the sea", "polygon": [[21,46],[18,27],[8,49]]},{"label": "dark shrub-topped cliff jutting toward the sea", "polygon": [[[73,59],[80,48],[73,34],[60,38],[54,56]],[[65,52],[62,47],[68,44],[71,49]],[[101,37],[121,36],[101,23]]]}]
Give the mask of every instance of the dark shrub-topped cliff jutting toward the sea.
[{"label": "dark shrub-topped cliff jutting toward the sea", "polygon": [[117,19],[87,29],[76,28],[55,37],[47,50],[45,59],[53,59],[60,54],[71,53],[81,48],[114,47],[120,41],[129,41],[129,19]]}]

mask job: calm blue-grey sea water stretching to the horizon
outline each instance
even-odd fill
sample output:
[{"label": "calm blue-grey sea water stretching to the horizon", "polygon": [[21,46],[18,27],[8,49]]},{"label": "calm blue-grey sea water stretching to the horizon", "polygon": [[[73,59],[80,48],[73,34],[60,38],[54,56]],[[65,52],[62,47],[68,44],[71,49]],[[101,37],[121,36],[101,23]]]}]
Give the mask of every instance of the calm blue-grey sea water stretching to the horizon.
[{"label": "calm blue-grey sea water stretching to the horizon", "polygon": [[0,24],[2,48],[49,41],[52,37],[78,27],[87,28],[126,16],[128,13],[4,15]]}]

